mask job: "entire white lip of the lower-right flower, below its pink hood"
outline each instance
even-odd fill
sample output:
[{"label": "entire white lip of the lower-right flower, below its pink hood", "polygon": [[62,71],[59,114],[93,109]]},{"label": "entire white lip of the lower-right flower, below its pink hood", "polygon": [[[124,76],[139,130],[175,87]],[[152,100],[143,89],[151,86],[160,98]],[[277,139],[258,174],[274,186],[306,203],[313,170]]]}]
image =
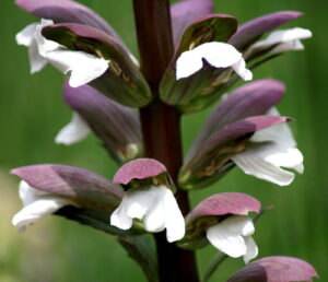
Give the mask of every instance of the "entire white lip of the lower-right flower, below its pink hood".
[{"label": "entire white lip of the lower-right flower, below its pink hood", "polygon": [[250,237],[255,232],[253,221],[245,215],[231,215],[207,230],[209,242],[230,257],[244,257],[245,263],[258,255],[258,248]]}]

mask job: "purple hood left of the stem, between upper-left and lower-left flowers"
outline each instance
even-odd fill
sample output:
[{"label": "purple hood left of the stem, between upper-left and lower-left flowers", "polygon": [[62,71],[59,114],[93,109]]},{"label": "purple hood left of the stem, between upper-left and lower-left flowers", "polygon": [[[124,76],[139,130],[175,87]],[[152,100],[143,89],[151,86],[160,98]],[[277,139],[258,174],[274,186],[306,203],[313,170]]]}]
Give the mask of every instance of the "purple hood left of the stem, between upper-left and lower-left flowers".
[{"label": "purple hood left of the stem, between upper-left and lower-left flowers", "polygon": [[142,155],[141,128],[137,113],[119,105],[90,85],[63,85],[66,103],[83,118],[119,163]]}]

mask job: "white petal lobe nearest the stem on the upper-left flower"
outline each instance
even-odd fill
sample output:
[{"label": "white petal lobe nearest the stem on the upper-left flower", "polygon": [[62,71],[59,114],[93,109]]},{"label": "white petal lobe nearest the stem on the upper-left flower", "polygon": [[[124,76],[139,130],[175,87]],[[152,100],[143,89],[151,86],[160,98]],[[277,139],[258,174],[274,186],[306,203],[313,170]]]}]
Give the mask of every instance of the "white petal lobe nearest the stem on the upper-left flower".
[{"label": "white petal lobe nearest the stem on the upper-left flower", "polygon": [[62,73],[71,72],[69,84],[72,87],[79,87],[101,77],[109,66],[109,61],[83,51],[59,49],[48,51],[44,57]]}]

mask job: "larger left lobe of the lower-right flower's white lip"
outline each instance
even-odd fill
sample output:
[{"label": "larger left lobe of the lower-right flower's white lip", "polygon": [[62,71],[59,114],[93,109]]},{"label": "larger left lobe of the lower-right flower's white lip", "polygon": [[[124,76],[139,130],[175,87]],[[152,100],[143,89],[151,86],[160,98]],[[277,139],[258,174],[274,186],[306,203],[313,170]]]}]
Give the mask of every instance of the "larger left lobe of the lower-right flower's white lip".
[{"label": "larger left lobe of the lower-right flower's white lip", "polygon": [[249,226],[249,219],[243,215],[232,215],[207,230],[209,242],[230,257],[246,255],[246,243],[242,236]]}]

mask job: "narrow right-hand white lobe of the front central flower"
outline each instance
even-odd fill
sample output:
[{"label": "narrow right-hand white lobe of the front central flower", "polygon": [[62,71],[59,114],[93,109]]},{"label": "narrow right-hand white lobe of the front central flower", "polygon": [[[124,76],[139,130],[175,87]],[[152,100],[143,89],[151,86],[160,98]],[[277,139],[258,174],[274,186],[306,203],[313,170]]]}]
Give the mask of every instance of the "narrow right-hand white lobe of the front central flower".
[{"label": "narrow right-hand white lobe of the front central flower", "polygon": [[164,211],[166,216],[166,238],[169,243],[185,236],[186,226],[184,215],[174,198],[173,192],[166,189]]}]

